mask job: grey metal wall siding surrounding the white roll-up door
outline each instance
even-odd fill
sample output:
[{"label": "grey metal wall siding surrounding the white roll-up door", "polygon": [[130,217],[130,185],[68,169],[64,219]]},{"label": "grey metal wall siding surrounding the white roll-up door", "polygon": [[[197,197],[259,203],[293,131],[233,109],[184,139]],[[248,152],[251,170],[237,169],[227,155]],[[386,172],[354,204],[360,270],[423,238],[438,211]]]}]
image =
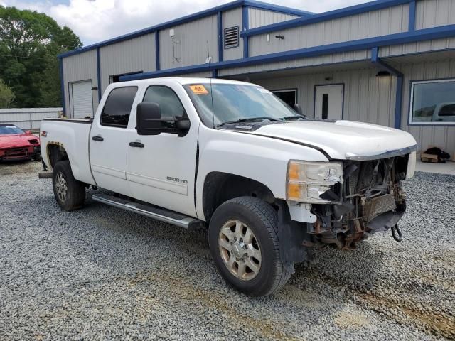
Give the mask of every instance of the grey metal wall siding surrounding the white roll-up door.
[{"label": "grey metal wall siding surrounding the white roll-up door", "polygon": [[[90,50],[77,55],[63,58],[63,80],[65,82],[65,114],[70,116],[70,82],[78,82],[80,80],[92,80],[93,87],[98,86],[97,77],[97,51]],[[93,112],[98,106],[98,92],[92,91],[93,97]]]}]

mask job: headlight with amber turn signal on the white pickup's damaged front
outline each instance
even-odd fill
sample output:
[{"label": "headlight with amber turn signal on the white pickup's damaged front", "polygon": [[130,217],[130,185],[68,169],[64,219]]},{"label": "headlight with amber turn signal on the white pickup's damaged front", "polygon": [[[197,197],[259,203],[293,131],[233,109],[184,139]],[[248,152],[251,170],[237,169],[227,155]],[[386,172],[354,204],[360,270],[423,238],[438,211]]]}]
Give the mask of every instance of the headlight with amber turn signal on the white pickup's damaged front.
[{"label": "headlight with amber turn signal on the white pickup's damaged front", "polygon": [[287,168],[287,200],[314,204],[333,202],[321,199],[321,195],[342,182],[341,162],[291,160]]}]

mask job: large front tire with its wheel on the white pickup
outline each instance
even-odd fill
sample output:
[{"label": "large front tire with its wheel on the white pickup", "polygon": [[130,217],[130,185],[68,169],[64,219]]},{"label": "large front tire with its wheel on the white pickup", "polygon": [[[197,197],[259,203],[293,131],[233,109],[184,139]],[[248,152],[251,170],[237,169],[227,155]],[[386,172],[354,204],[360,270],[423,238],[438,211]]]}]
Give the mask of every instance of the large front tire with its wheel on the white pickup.
[{"label": "large front tire with its wheel on the white pickup", "polygon": [[221,276],[247,295],[270,295],[292,274],[279,256],[277,212],[257,197],[220,205],[210,220],[209,244]]}]

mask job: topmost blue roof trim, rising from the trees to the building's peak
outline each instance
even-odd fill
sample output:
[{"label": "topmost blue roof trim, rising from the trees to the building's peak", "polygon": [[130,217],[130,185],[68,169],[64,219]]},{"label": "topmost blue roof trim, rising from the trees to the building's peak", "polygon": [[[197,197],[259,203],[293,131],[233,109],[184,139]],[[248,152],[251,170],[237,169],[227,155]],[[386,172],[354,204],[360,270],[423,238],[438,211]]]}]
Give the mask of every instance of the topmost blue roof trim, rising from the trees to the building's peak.
[{"label": "topmost blue roof trim, rising from the trees to the building's peak", "polygon": [[137,37],[140,37],[140,36],[144,36],[144,35],[146,35],[148,33],[152,33],[152,32],[159,31],[159,30],[163,30],[165,28],[171,28],[171,27],[179,25],[181,23],[188,23],[190,21],[195,21],[195,20],[197,20],[199,18],[205,18],[206,16],[212,16],[214,14],[217,14],[220,11],[228,11],[230,9],[236,9],[237,7],[245,6],[245,4],[247,4],[247,6],[251,6],[251,7],[255,7],[255,8],[262,8],[262,9],[267,8],[267,9],[269,9],[269,11],[279,11],[281,13],[289,13],[289,14],[294,14],[294,15],[296,13],[300,13],[299,15],[301,15],[301,16],[311,14],[309,12],[299,11],[299,10],[296,10],[296,9],[290,9],[290,8],[283,7],[283,6],[275,6],[275,5],[263,4],[262,2],[259,2],[259,1],[236,0],[236,1],[228,2],[228,4],[216,6],[216,7],[213,7],[211,9],[206,9],[205,11],[200,11],[198,13],[193,13],[193,14],[188,15],[188,16],[183,16],[181,18],[177,18],[177,19],[174,19],[174,20],[171,20],[171,21],[166,21],[166,23],[160,23],[158,25],[151,26],[149,28],[144,28],[144,29],[139,30],[139,31],[135,31],[135,32],[132,32],[132,33],[127,33],[127,34],[124,34],[123,36],[119,36],[117,38],[112,38],[112,39],[109,39],[109,40],[105,40],[105,41],[102,41],[101,43],[96,43],[96,44],[85,46],[83,48],[79,48],[77,50],[68,51],[66,53],[62,53],[62,54],[58,55],[58,58],[68,57],[70,55],[75,55],[77,53],[82,53],[82,52],[86,52],[86,51],[89,51],[89,50],[94,50],[95,48],[101,48],[102,46],[111,45],[111,44],[114,44],[114,43],[119,43],[119,42],[124,41],[124,40],[129,40],[129,39],[132,39],[132,38],[137,38]]}]

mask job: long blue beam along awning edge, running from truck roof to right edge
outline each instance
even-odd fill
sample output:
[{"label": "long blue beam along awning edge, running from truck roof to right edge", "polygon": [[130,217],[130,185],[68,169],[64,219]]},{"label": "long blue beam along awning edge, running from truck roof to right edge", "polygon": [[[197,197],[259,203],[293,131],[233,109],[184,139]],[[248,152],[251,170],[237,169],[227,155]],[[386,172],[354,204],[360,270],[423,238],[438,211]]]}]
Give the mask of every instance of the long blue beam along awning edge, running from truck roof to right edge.
[{"label": "long blue beam along awning edge, running from truck roof to right edge", "polygon": [[160,70],[158,72],[145,72],[143,75],[136,77],[124,76],[120,80],[138,80],[151,77],[164,77],[168,75],[179,75],[190,72],[205,72],[213,69],[225,69],[229,67],[244,67],[257,65],[258,63],[274,63],[284,60],[292,60],[296,58],[317,57],[319,55],[328,55],[331,53],[350,52],[356,50],[368,50],[375,47],[400,45],[405,43],[415,43],[422,40],[432,40],[438,38],[449,38],[455,36],[455,25],[439,26],[433,28],[425,28],[423,30],[395,33],[387,36],[374,38],[365,38],[352,40],[344,43],[335,43],[329,45],[315,46],[312,48],[301,48],[297,50],[289,50],[279,53],[271,53],[269,55],[258,55],[236,60],[225,60],[218,63],[193,65],[187,67],[178,67],[175,69]]}]

